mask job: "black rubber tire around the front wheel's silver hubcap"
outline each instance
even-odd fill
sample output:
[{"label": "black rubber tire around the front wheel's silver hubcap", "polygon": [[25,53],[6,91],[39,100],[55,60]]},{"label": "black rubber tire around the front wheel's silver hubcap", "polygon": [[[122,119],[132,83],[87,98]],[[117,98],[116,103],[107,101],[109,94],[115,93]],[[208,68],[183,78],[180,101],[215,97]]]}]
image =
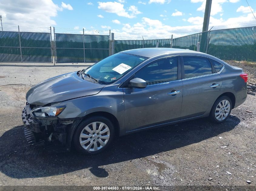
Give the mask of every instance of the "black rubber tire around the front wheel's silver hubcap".
[{"label": "black rubber tire around the front wheel's silver hubcap", "polygon": [[[88,150],[85,150],[85,148],[83,148],[80,144],[80,134],[81,132],[83,131],[83,129],[93,123],[93,122],[101,122],[101,123],[105,123],[109,129],[109,132],[110,132],[110,135],[109,135],[109,139],[108,139],[108,142],[105,144],[105,146],[103,146],[102,148],[100,148],[99,150],[97,151],[88,151]],[[98,128],[98,126],[97,126]],[[104,128],[104,127],[103,127]],[[84,132],[84,131],[83,131]],[[83,153],[83,154],[88,154],[88,155],[93,155],[93,154],[98,154],[98,153],[101,153],[102,151],[105,151],[109,145],[111,145],[111,142],[113,141],[115,137],[115,129],[114,129],[114,126],[113,126],[113,123],[106,117],[102,117],[102,116],[95,116],[95,117],[90,117],[88,119],[86,119],[85,121],[83,121],[81,124],[79,124],[79,126],[77,127],[77,129],[75,130],[75,133],[74,133],[74,136],[73,136],[73,143],[74,143],[74,146],[75,146],[75,149],[80,152],[80,153]],[[86,138],[87,139],[87,138]],[[97,139],[96,139],[97,140]],[[102,140],[102,139],[101,139]],[[91,142],[91,141],[90,141]],[[90,143],[89,142],[89,143]],[[87,143],[88,144],[88,143]],[[94,146],[94,143],[92,143],[93,146]],[[96,143],[99,145],[99,142]],[[87,145],[88,146],[88,145]],[[92,147],[92,146],[91,146]]]}]

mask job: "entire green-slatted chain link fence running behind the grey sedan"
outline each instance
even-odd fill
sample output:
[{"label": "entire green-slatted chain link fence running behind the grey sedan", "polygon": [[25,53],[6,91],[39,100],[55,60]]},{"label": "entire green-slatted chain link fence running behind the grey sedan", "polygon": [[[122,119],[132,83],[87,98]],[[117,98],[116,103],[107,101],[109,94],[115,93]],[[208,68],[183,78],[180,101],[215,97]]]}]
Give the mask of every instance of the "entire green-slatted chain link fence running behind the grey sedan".
[{"label": "entire green-slatted chain link fence running behind the grey sedan", "polygon": [[80,32],[53,30],[54,41],[51,41],[52,32],[0,31],[0,62],[98,62],[128,49],[172,47],[196,51],[197,43],[200,52],[223,60],[256,61],[255,26],[210,30],[173,40],[110,40],[107,31],[103,35]]}]

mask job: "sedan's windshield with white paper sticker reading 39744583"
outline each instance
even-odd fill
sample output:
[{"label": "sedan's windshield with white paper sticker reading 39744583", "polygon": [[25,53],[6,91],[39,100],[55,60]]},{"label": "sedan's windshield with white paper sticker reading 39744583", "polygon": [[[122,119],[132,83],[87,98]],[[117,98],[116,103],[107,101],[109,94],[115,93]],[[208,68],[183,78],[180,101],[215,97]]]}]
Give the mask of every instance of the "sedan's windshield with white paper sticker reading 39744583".
[{"label": "sedan's windshield with white paper sticker reading 39744583", "polygon": [[112,84],[146,59],[124,53],[114,54],[87,68],[84,71],[87,74],[84,75],[85,80],[91,81],[94,78],[97,80],[95,83]]}]

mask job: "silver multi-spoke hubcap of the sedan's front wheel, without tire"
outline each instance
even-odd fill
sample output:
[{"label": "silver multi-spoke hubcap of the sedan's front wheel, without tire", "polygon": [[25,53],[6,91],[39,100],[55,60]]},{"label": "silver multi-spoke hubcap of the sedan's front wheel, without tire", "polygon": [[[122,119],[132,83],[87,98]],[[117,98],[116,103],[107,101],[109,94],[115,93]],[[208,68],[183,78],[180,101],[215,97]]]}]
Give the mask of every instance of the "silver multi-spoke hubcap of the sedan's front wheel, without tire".
[{"label": "silver multi-spoke hubcap of the sedan's front wheel, without tire", "polygon": [[88,124],[80,133],[80,145],[86,151],[98,151],[103,148],[110,136],[108,126],[102,122]]}]

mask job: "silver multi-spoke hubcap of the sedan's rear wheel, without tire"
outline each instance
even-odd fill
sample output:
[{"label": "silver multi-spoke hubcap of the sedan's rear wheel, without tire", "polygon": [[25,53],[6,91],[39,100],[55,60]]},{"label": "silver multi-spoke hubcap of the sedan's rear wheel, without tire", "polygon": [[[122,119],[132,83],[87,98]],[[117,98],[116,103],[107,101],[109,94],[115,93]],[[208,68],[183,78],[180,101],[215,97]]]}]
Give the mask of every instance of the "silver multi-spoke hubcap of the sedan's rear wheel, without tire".
[{"label": "silver multi-spoke hubcap of the sedan's rear wheel, without tire", "polygon": [[230,112],[230,103],[228,100],[221,100],[215,109],[215,118],[222,121],[227,118]]}]

